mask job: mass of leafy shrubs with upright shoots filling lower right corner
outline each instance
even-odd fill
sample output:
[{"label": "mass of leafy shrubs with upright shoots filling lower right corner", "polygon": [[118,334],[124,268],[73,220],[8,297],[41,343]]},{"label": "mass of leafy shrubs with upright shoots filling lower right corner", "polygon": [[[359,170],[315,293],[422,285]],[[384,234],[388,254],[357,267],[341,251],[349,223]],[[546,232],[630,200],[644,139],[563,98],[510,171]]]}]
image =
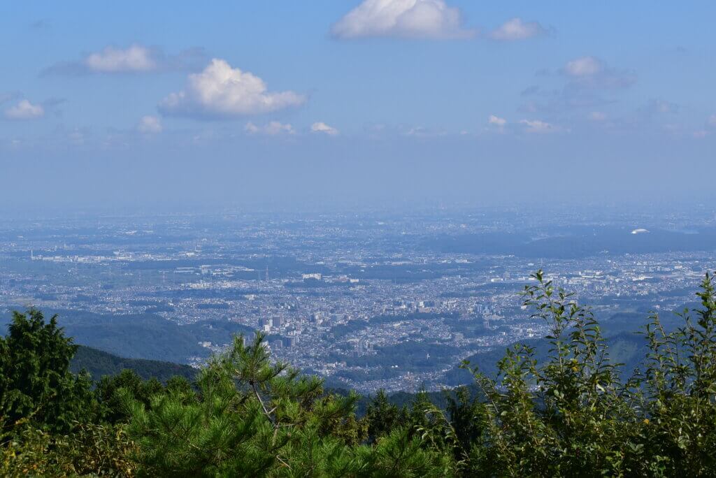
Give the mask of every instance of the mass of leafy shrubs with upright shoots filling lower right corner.
[{"label": "mass of leafy shrubs with upright shoots filling lower right corner", "polygon": [[[712,476],[716,463],[716,306],[712,278],[702,308],[685,325],[647,325],[644,373],[619,379],[589,308],[541,271],[524,292],[534,316],[551,326],[548,360],[529,346],[509,349],[499,374],[478,371],[484,395],[472,421],[463,471],[488,476]],[[464,365],[469,368],[469,364]],[[462,420],[455,424],[460,429]],[[460,440],[463,449],[464,441]]]}]

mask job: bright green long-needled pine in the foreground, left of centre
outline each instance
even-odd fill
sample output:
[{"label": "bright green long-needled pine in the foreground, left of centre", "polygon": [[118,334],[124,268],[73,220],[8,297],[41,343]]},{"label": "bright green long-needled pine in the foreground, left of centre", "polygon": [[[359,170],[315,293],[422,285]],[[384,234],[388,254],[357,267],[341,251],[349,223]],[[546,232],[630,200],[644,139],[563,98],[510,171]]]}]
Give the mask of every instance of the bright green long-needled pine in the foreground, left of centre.
[{"label": "bright green long-needled pine in the foreground, left of centre", "polygon": [[326,396],[321,381],[271,362],[258,334],[236,338],[198,379],[149,406],[125,394],[142,473],[179,476],[439,476],[449,462],[395,429],[362,445],[357,395]]}]

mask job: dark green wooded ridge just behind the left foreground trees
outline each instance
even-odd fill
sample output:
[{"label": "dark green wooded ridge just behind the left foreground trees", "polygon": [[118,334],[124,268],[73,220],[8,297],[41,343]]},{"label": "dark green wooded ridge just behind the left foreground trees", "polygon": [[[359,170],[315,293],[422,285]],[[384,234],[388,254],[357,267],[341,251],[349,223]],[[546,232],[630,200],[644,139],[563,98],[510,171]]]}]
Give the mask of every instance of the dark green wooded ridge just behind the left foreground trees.
[{"label": "dark green wooded ridge just behind the left foreground trees", "polygon": [[123,358],[87,346],[79,346],[72,358],[70,369],[74,373],[85,369],[94,380],[99,380],[105,375],[119,374],[124,369],[135,371],[142,379],[155,378],[162,382],[175,375],[192,380],[197,374],[197,370],[188,365],[142,358]]}]

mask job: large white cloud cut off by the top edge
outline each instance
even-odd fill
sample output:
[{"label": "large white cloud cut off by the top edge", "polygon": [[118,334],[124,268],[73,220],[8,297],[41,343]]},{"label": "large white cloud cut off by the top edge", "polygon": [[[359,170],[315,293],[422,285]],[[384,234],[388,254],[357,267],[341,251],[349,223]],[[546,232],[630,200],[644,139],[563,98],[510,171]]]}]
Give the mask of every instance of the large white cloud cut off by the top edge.
[{"label": "large white cloud cut off by the top edge", "polygon": [[445,0],[364,0],[332,28],[337,38],[398,36],[452,39],[474,36],[463,29],[460,10]]}]

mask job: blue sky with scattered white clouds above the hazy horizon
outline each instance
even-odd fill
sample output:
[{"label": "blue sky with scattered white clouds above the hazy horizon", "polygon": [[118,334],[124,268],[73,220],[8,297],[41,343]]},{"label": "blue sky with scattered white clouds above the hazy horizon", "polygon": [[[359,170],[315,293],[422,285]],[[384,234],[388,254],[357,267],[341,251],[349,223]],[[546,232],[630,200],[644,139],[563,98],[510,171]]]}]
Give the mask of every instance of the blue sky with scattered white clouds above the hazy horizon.
[{"label": "blue sky with scattered white clouds above the hazy horizon", "polygon": [[712,197],[715,14],[708,1],[5,2],[0,200]]}]

